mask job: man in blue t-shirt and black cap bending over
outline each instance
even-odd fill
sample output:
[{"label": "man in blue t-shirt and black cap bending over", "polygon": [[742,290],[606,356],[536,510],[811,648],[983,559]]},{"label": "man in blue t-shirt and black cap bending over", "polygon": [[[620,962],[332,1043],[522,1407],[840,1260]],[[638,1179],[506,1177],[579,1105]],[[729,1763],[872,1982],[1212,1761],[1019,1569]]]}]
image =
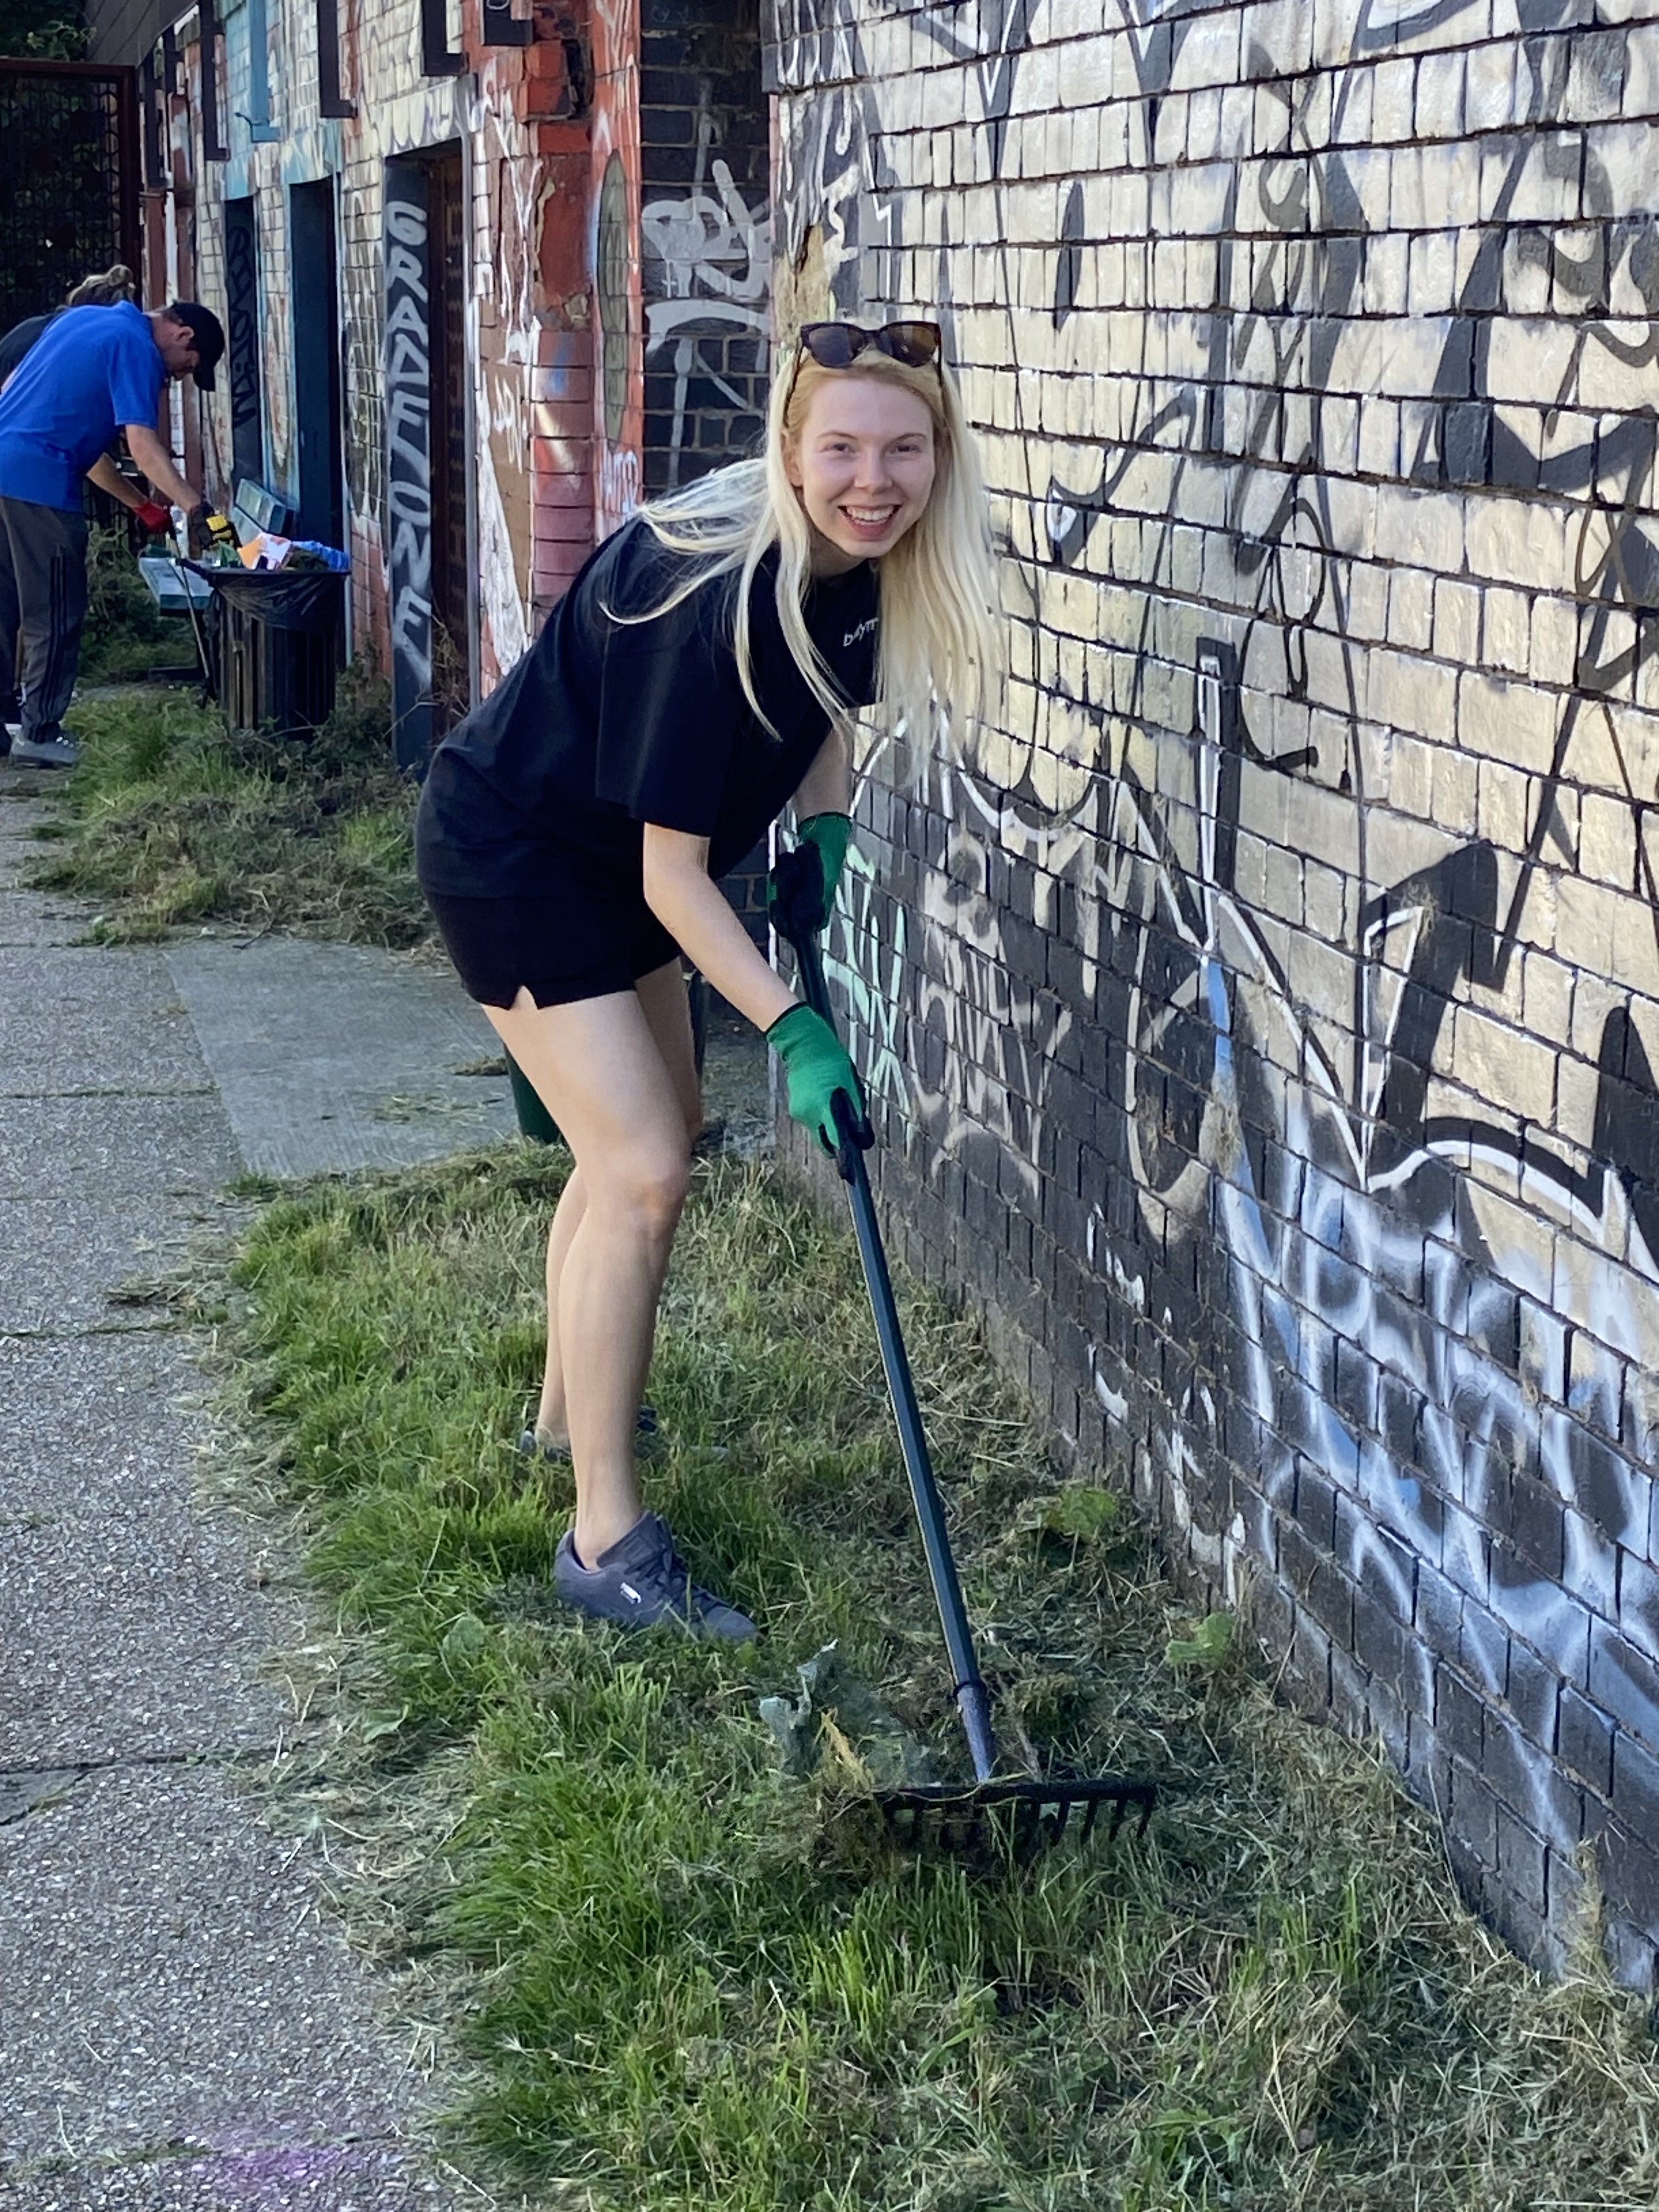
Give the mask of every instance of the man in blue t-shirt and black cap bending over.
[{"label": "man in blue t-shirt and black cap bending over", "polygon": [[[71,307],[55,316],[0,392],[0,633],[22,641],[22,721],[13,761],[69,768],[77,745],[62,717],[75,690],[86,619],[86,509],[82,482],[126,493],[108,447],[126,449],[170,507],[204,498],[173,467],[155,429],[168,376],[212,392],[226,349],[219,319],[195,301]],[[0,635],[0,653],[4,635]]]}]

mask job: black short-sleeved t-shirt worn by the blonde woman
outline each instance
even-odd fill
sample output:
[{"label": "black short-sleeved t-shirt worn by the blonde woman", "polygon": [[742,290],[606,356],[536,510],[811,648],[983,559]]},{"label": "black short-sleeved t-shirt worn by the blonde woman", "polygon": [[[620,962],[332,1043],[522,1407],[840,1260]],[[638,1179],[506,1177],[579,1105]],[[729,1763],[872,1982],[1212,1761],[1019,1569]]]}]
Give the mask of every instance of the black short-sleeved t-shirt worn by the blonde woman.
[{"label": "black short-sleeved t-shirt worn by the blonde woman", "polygon": [[[726,874],[776,821],[823,745],[812,697],[776,615],[776,553],[750,593],[754,690],[737,677],[737,577],[699,586],[648,622],[684,575],[648,524],[606,540],[504,681],[442,741],[416,818],[429,891],[451,898],[573,894],[593,933],[628,942],[648,909],[644,823],[706,836]],[[876,690],[876,571],[821,577],[805,622],[849,708]]]}]

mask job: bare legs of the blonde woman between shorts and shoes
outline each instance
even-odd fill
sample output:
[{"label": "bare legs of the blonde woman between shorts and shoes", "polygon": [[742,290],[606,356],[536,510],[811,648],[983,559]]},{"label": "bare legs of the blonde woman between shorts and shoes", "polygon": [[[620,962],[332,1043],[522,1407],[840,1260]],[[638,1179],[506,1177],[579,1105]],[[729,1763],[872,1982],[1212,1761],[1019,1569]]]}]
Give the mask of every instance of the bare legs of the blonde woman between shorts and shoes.
[{"label": "bare legs of the blonde woman between shorts and shoes", "polygon": [[573,1219],[560,1203],[549,1239],[549,1367],[575,1460],[573,1542],[593,1564],[641,1513],[635,1416],[697,1115],[684,984],[677,969],[659,969],[637,991],[571,1006],[520,993],[511,1009],[484,1011],[575,1152],[580,1203]]}]

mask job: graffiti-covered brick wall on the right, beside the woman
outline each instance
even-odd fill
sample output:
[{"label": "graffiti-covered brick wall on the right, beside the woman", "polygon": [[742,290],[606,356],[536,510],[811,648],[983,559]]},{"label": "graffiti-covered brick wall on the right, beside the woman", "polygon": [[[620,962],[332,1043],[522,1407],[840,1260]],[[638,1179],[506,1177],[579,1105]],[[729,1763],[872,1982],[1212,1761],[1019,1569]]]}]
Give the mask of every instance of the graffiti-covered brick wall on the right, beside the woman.
[{"label": "graffiti-covered brick wall on the right, beside the woman", "polygon": [[779,281],[945,316],[1009,546],[834,942],[900,1248],[1650,1984],[1655,9],[776,9]]}]

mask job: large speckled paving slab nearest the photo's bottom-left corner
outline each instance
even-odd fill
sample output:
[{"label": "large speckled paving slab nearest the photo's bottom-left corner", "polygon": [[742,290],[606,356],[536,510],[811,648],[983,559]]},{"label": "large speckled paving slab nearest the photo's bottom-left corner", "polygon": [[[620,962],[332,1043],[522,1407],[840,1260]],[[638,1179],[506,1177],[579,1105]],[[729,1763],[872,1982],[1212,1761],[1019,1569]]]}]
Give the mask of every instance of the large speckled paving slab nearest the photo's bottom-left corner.
[{"label": "large speckled paving slab nearest the photo's bottom-left corner", "polygon": [[290,1856],[215,1767],[88,1774],[0,1829],[0,2170],[407,2128],[420,2086]]}]

